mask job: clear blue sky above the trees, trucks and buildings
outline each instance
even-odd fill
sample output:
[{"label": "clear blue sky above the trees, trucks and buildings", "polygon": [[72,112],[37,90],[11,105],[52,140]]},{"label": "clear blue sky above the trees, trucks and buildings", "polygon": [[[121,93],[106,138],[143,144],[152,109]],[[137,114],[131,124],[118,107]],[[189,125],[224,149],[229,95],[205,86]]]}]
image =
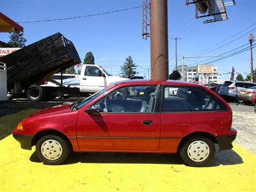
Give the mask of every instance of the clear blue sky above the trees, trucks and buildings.
[{"label": "clear blue sky above the trees, trucks and buildings", "polygon": [[[154,0],[157,1],[157,0]],[[227,2],[229,0],[225,0]],[[248,47],[248,35],[256,35],[256,1],[236,0],[236,5],[227,6],[228,20],[203,24],[205,19],[195,18],[195,5],[186,6],[186,0],[168,0],[168,52],[169,71],[175,60],[174,37],[177,42],[178,65],[182,56],[227,56],[231,52]],[[15,22],[63,19],[111,12],[141,6],[142,0],[1,0],[0,12]],[[150,40],[142,39],[142,8],[81,19],[51,22],[20,23],[24,28],[26,45],[60,32],[75,45],[84,60],[86,52],[92,51],[95,63],[113,75],[120,74],[125,58],[132,56],[138,65],[140,76],[147,76],[150,68]],[[0,33],[0,40],[8,42],[8,33]],[[256,36],[255,36],[256,38]],[[248,44],[248,45],[245,45]],[[244,45],[243,47],[241,47]],[[237,47],[241,47],[236,49]],[[253,49],[253,58],[256,54]],[[227,54],[225,54],[227,52]],[[220,58],[220,57],[218,57]],[[185,65],[204,64],[208,58],[186,58]],[[214,63],[220,80],[230,78],[232,67],[245,77],[250,73],[250,51]],[[256,63],[254,62],[254,67]],[[235,75],[236,77],[236,75]]]}]

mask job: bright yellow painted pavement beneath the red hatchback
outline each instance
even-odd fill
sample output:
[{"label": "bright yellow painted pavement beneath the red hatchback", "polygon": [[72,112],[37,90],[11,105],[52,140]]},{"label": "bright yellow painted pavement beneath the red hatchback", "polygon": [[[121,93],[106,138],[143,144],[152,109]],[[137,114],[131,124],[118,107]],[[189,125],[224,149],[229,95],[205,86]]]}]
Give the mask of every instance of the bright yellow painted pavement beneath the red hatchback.
[{"label": "bright yellow painted pavement beneath the red hatchback", "polygon": [[256,154],[241,145],[217,152],[204,168],[176,154],[71,154],[66,164],[40,163],[12,136],[0,141],[0,191],[256,191]]}]

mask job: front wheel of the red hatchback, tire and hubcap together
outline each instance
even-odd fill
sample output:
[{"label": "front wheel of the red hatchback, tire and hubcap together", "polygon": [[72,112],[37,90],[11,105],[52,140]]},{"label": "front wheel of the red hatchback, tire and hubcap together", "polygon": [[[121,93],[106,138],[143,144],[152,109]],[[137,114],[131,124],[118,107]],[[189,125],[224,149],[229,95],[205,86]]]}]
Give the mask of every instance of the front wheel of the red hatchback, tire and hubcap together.
[{"label": "front wheel of the red hatchback, tire and hubcap together", "polygon": [[45,164],[61,164],[69,156],[69,143],[56,135],[47,135],[36,142],[36,156]]}]

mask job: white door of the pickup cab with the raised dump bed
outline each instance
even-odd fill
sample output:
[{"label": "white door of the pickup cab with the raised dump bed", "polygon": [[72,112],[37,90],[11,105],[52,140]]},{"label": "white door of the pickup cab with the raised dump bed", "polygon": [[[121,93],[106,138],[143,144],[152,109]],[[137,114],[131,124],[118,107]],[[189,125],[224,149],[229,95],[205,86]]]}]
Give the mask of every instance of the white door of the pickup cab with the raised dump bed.
[{"label": "white door of the pickup cab with the raised dump bed", "polygon": [[83,92],[97,92],[106,87],[106,76],[97,66],[86,66],[81,74],[81,90]]}]

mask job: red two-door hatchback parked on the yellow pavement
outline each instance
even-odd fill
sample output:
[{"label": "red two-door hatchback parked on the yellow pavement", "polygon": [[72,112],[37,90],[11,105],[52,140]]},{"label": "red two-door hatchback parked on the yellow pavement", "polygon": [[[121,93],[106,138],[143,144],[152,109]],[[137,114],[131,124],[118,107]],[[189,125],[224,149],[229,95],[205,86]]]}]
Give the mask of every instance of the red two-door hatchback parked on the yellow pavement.
[{"label": "red two-door hatchback parked on the yellow pavement", "polygon": [[189,166],[204,166],[236,139],[232,110],[204,86],[179,81],[122,81],[94,95],[28,116],[13,137],[36,145],[45,164],[70,152],[179,152]]}]

